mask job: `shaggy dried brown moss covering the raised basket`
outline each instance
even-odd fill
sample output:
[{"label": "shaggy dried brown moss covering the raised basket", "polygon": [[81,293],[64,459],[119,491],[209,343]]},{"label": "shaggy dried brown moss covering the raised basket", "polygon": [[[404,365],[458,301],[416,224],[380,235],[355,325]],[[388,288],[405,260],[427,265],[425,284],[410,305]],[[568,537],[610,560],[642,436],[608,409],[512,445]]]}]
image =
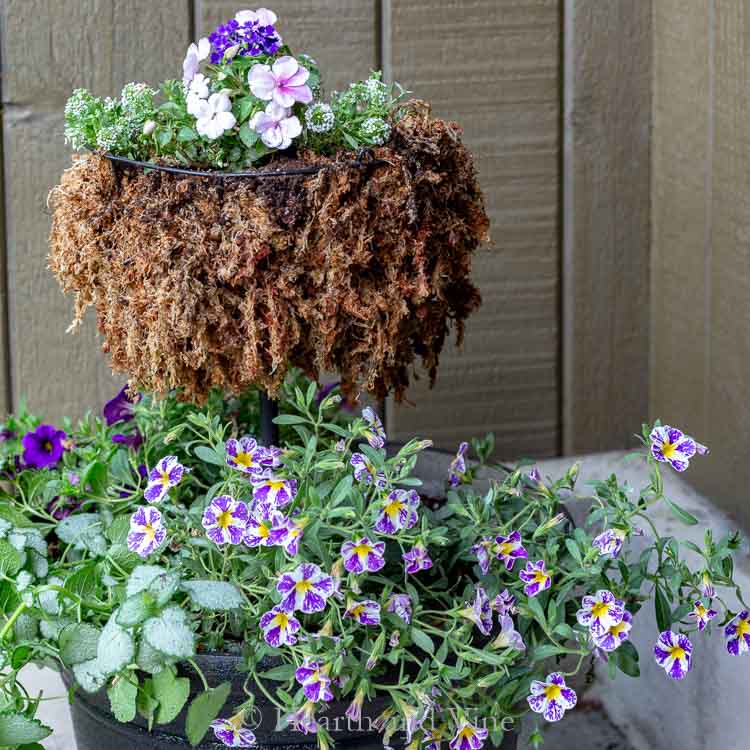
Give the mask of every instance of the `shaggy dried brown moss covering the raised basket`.
[{"label": "shaggy dried brown moss covering the raised basket", "polygon": [[291,366],[401,398],[432,379],[452,323],[480,303],[471,254],[488,220],[455,124],[412,103],[368,170],[225,179],[79,158],[52,192],[50,266],[96,308],[112,367],[201,401],[219,386],[277,392]]}]

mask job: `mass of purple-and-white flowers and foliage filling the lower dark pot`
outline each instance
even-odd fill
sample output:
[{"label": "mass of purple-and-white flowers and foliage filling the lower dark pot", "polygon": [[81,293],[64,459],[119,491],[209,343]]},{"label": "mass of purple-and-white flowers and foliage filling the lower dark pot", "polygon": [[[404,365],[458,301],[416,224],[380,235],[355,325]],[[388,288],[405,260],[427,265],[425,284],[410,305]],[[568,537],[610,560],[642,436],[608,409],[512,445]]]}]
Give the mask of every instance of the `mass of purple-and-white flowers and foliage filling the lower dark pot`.
[{"label": "mass of purple-and-white flowers and foliage filling the lower dark pot", "polygon": [[17,681],[31,661],[106,689],[121,721],[140,712],[166,723],[188,700],[198,651],[237,654],[247,699],[223,705],[228,686],[206,684],[211,699],[188,708],[194,744],[212,728],[225,745],[253,745],[246,722],[262,691],[321,747],[324,704],[348,703],[356,723],[380,696],[386,745],[403,731],[410,747],[479,750],[500,743],[503,718],[558,721],[574,709],[566,680],[592,656],[637,676],[629,638],[649,600],[661,631],[652,658],[673,679],[687,676],[714,621],[729,654],[750,649],[750,607],[733,610],[719,593],[742,602],[738,537],[707,531],[702,548],[683,545],[649,518],[667,503],[696,523],[662,492],[660,467],[682,471],[706,452],[679,430],[645,427],[648,485],[633,496],[614,477],[596,484],[587,524],[573,528],[564,502],[575,500],[576,466],[556,481],[492,467],[488,436],[474,456],[461,444],[442,499],[425,497],[415,467],[429,441],[389,451],[377,414],[354,416],[340,400],[290,383],[280,446],[254,436],[257,393],[197,408],[123,389],[75,428],[25,412],[8,420],[4,738],[49,734]]}]

